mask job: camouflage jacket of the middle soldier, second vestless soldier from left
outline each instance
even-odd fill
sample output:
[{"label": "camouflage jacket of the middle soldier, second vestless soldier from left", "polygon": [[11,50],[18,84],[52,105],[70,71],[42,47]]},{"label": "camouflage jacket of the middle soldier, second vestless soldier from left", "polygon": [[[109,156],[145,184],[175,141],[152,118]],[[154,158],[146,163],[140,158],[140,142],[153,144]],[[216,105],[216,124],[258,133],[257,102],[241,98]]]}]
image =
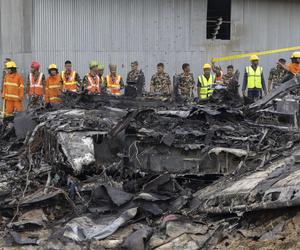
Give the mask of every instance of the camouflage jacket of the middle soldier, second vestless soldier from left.
[{"label": "camouflage jacket of the middle soldier, second vestless soldier from left", "polygon": [[156,73],[152,76],[150,89],[155,94],[170,94],[171,79],[168,73]]}]

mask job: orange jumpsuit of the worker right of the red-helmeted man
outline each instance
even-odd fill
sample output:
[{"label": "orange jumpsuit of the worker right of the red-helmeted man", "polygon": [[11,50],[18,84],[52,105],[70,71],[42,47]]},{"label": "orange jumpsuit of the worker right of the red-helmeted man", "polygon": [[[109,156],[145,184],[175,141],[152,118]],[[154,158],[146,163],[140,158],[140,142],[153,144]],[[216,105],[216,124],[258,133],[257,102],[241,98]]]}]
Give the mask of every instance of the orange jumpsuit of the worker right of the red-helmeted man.
[{"label": "orange jumpsuit of the worker right of the red-helmeted man", "polygon": [[45,103],[62,102],[62,79],[59,74],[55,76],[49,76],[45,84]]}]

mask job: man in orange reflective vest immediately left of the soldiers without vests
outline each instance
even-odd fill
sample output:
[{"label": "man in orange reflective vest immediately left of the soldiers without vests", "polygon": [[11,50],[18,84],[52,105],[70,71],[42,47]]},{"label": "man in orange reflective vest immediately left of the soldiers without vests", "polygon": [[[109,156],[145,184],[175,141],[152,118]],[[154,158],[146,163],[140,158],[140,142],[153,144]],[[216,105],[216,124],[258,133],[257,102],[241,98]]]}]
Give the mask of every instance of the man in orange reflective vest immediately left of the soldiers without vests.
[{"label": "man in orange reflective vest immediately left of the soldiers without vests", "polygon": [[120,96],[122,95],[122,89],[124,89],[124,82],[122,77],[117,73],[117,66],[109,65],[110,74],[105,77],[106,91],[110,95]]}]

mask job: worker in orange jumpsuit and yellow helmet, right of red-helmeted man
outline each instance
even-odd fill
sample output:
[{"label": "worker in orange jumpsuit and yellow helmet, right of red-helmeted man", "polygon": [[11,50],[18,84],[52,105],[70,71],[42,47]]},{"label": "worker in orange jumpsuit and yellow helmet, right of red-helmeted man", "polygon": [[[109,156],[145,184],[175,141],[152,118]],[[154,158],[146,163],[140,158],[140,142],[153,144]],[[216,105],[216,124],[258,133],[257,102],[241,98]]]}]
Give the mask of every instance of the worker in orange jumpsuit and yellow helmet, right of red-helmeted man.
[{"label": "worker in orange jumpsuit and yellow helmet, right of red-helmeted man", "polygon": [[57,103],[61,103],[60,98],[62,92],[62,79],[58,73],[56,64],[50,64],[48,67],[49,77],[45,84],[45,103],[55,106]]}]

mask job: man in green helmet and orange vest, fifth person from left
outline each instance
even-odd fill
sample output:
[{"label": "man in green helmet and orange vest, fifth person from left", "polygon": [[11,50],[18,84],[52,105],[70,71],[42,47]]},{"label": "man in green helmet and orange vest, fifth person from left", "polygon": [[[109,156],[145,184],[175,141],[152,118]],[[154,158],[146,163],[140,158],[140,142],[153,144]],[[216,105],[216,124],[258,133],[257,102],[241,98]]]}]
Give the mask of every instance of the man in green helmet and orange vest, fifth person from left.
[{"label": "man in green helmet and orange vest, fifth person from left", "polygon": [[83,78],[83,87],[89,94],[101,93],[101,79],[98,75],[98,62],[89,63],[90,72]]}]

